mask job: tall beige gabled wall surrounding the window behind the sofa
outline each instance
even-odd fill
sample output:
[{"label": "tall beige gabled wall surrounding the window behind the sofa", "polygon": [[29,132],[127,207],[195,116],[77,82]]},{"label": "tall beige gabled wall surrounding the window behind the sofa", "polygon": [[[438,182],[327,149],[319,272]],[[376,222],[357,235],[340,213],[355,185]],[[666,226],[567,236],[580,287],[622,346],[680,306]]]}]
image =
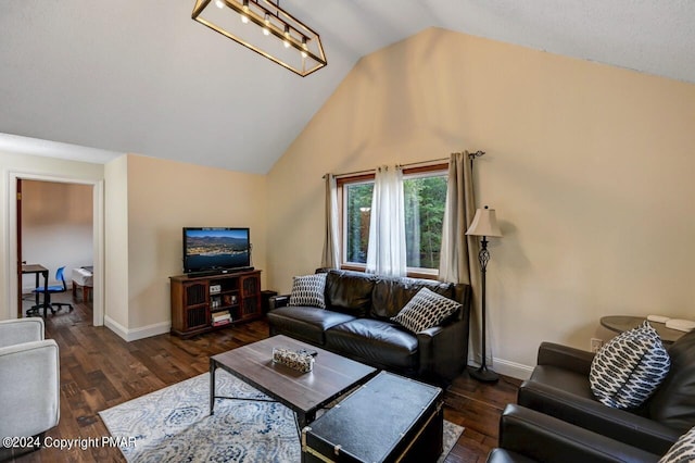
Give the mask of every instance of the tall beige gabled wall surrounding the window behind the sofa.
[{"label": "tall beige gabled wall surrounding the window behind the sofa", "polygon": [[269,173],[270,286],[319,264],[324,173],[481,149],[497,370],[587,349],[603,315],[693,318],[693,121],[694,85],[425,30],[361,60]]}]

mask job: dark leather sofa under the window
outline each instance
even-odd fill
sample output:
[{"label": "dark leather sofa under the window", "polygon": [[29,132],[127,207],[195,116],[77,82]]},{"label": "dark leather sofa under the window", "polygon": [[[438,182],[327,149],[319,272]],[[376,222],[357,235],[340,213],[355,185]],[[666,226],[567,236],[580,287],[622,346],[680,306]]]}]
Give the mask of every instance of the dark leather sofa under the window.
[{"label": "dark leather sofa under the window", "polygon": [[[424,287],[463,308],[416,335],[389,318]],[[326,309],[287,306],[289,296],[278,296],[270,298],[268,323],[270,336],[290,336],[380,370],[446,383],[467,364],[470,298],[468,285],[331,270]]]}]

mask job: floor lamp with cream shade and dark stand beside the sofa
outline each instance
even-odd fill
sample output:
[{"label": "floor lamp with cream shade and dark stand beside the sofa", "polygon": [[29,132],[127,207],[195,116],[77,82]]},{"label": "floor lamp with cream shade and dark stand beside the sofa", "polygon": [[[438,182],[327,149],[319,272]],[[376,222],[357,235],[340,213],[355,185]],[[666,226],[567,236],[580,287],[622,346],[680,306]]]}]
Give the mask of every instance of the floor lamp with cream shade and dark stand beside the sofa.
[{"label": "floor lamp with cream shade and dark stand beside the sofa", "polygon": [[478,261],[480,262],[480,276],[481,276],[481,286],[482,286],[482,297],[481,297],[481,315],[482,315],[482,362],[480,367],[469,367],[468,374],[478,379],[479,381],[484,383],[495,383],[500,379],[500,375],[497,375],[492,370],[488,368],[488,362],[485,361],[485,272],[488,268],[488,262],[490,261],[490,251],[488,251],[488,237],[502,237],[502,233],[500,232],[500,226],[497,225],[497,217],[495,216],[494,209],[479,209],[476,211],[476,216],[473,217],[473,222],[468,227],[466,235],[470,236],[481,236],[482,240],[480,241],[480,252],[478,252]]}]

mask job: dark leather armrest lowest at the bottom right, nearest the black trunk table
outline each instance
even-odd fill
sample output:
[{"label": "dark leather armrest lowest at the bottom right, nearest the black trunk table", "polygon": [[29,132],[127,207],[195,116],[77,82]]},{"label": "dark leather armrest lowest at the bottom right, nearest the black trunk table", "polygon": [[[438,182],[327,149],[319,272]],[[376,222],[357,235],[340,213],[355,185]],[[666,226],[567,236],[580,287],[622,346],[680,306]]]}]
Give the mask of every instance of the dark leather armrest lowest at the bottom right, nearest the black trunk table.
[{"label": "dark leather armrest lowest at the bottom right, nearest the black trunk table", "polygon": [[657,454],[509,404],[500,420],[500,447],[542,462],[656,462]]}]

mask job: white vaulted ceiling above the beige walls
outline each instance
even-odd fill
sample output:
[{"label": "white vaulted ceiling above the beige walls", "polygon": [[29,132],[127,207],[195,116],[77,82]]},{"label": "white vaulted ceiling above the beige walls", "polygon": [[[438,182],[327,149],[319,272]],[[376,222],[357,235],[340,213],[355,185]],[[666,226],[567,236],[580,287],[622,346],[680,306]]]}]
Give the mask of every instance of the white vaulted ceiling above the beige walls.
[{"label": "white vaulted ceiling above the beige walls", "polygon": [[693,0],[282,0],[328,58],[305,78],[193,22],[193,3],[2,1],[0,150],[263,174],[361,57],[432,26],[695,83]]}]

